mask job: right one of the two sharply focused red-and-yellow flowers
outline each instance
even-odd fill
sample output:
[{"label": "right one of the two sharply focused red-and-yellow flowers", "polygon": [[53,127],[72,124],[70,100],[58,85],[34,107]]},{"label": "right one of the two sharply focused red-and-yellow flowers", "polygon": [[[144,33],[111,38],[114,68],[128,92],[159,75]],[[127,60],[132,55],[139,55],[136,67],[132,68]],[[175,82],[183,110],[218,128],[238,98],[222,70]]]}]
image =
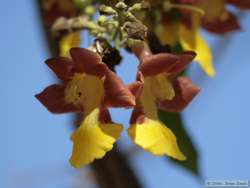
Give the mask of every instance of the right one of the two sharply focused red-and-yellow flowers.
[{"label": "right one of the two sharply focused red-and-yellow flowers", "polygon": [[137,80],[143,87],[133,91],[137,103],[130,120],[129,136],[135,144],[154,155],[185,160],[175,135],[159,120],[157,109],[179,112],[199,92],[188,78],[176,78],[194,59],[195,53],[152,55],[148,47],[142,45],[134,47],[134,52],[140,59]]}]

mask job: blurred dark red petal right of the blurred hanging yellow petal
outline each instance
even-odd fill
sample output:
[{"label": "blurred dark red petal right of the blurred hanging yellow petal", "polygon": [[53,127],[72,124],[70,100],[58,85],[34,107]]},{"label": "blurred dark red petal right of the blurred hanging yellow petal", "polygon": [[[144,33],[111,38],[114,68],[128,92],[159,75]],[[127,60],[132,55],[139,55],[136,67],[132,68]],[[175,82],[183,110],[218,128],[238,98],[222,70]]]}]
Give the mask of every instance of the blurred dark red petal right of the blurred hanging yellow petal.
[{"label": "blurred dark red petal right of the blurred hanging yellow petal", "polygon": [[240,24],[234,14],[231,12],[228,13],[228,18],[226,20],[220,20],[220,18],[217,18],[217,20],[214,20],[213,22],[202,19],[202,27],[204,27],[206,30],[215,33],[215,34],[226,34],[228,32],[237,31],[240,30]]}]

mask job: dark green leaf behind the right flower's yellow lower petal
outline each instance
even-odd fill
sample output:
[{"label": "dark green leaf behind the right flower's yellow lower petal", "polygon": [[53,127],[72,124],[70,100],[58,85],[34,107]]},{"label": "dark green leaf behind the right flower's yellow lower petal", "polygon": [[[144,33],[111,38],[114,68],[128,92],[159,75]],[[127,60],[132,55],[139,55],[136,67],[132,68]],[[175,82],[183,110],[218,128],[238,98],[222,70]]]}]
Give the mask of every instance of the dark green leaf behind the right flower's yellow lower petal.
[{"label": "dark green leaf behind the right flower's yellow lower petal", "polygon": [[181,114],[158,110],[158,115],[159,115],[160,120],[169,129],[173,131],[173,133],[177,137],[177,142],[181,151],[187,157],[185,161],[178,161],[178,160],[169,158],[170,161],[188,170],[197,178],[200,178],[201,174],[199,171],[199,163],[198,163],[199,153],[197,149],[195,148],[191,140],[191,137],[189,136],[188,132],[186,131],[184,127]]}]

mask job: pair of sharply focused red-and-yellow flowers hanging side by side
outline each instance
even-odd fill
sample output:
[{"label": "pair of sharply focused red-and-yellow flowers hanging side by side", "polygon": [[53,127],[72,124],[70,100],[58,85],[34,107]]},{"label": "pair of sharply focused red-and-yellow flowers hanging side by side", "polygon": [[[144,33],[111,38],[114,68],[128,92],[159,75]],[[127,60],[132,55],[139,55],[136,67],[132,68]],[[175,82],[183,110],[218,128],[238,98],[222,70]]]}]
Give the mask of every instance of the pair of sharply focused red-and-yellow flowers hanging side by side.
[{"label": "pair of sharply focused red-and-yellow flowers hanging side by side", "polygon": [[36,95],[37,99],[53,113],[81,112],[84,117],[71,137],[73,166],[81,167],[103,157],[120,136],[122,125],[112,122],[109,107],[134,108],[128,131],[136,144],[156,155],[185,159],[174,134],[159,121],[157,107],[180,111],[198,93],[198,87],[189,79],[177,77],[195,53],[153,55],[145,46],[142,43],[133,47],[140,65],[137,81],[129,86],[88,49],[72,48],[72,59],[46,61],[62,84],[47,87]]}]

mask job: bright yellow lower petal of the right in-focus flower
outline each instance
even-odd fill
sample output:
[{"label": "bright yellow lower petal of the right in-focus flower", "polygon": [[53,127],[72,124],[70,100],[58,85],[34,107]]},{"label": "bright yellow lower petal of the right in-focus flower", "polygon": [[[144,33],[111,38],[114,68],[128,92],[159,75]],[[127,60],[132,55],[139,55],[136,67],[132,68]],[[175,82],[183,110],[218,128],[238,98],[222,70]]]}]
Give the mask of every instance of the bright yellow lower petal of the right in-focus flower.
[{"label": "bright yellow lower petal of the right in-focus flower", "polygon": [[145,118],[142,124],[132,124],[128,133],[135,144],[154,155],[168,155],[178,160],[186,159],[177,145],[173,132],[158,120]]}]

